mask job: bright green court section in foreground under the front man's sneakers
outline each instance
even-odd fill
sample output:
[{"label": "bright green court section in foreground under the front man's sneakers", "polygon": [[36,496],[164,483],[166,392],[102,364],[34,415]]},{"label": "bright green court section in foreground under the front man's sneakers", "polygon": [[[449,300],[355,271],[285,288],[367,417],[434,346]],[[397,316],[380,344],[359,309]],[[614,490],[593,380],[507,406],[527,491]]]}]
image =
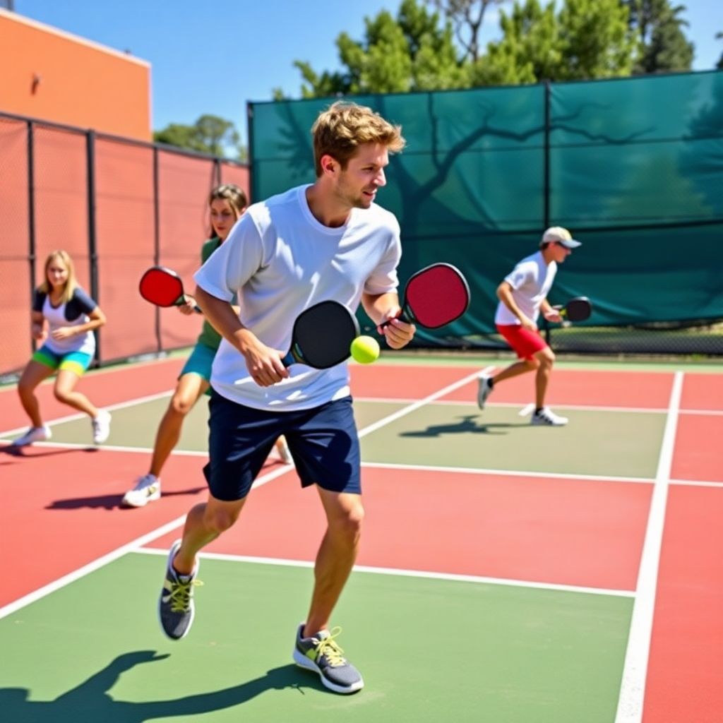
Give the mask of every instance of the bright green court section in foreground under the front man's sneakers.
[{"label": "bright green court section in foreground under the front man's sneakers", "polygon": [[203,560],[194,626],[171,642],[149,594],[164,565],[165,556],[126,555],[0,620],[3,720],[608,723],[615,716],[628,596],[353,573],[335,620],[354,620],[341,644],[367,688],[346,697],[291,664],[308,568]]}]

